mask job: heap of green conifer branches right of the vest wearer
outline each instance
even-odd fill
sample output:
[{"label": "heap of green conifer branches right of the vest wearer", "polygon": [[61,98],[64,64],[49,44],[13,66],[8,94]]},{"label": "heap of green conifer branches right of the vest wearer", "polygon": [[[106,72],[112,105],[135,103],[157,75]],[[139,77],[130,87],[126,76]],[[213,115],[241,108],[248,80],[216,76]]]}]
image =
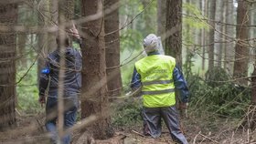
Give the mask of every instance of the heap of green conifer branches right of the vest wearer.
[{"label": "heap of green conifer branches right of the vest wearer", "polygon": [[202,113],[211,112],[220,118],[241,118],[251,101],[251,88],[230,80],[221,68],[214,68],[206,78],[191,75],[187,78],[189,108]]}]

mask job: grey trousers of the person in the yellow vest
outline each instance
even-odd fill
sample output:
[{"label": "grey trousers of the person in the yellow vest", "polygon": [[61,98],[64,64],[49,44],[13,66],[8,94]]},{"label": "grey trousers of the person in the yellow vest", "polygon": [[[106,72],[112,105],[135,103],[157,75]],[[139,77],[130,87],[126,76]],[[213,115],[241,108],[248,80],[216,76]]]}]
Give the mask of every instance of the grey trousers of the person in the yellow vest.
[{"label": "grey trousers of the person in the yellow vest", "polygon": [[153,138],[161,135],[161,118],[169,130],[174,141],[187,144],[187,139],[182,133],[178,121],[177,110],[175,106],[164,108],[143,108],[144,134],[149,134]]}]

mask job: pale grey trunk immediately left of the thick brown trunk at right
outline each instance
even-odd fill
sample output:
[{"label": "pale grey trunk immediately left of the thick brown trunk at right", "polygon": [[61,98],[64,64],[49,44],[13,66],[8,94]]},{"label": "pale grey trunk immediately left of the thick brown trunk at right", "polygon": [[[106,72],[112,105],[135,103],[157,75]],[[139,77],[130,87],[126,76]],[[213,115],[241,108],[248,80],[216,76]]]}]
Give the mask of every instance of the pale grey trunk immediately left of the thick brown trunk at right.
[{"label": "pale grey trunk immediately left of the thick brown trunk at right", "polygon": [[[226,0],[226,23],[232,24],[234,23],[234,5],[233,0]],[[234,26],[226,26],[225,27],[225,43],[224,46],[224,69],[226,69],[227,72],[229,72],[229,75],[233,75],[233,59],[234,59],[234,42],[232,41],[232,38],[235,35],[235,28]],[[229,37],[230,36],[230,37]]]}]

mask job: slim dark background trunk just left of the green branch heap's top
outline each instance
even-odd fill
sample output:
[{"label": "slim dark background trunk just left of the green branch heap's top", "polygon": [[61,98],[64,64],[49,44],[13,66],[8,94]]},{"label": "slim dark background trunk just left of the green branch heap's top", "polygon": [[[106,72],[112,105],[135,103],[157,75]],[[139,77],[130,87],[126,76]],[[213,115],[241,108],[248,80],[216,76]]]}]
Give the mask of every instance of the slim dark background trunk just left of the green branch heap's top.
[{"label": "slim dark background trunk just left of the green branch heap's top", "polygon": [[216,1],[209,1],[209,25],[211,26],[209,29],[208,34],[208,70],[211,71],[211,69],[214,67],[214,31],[215,31],[215,12],[216,12]]}]

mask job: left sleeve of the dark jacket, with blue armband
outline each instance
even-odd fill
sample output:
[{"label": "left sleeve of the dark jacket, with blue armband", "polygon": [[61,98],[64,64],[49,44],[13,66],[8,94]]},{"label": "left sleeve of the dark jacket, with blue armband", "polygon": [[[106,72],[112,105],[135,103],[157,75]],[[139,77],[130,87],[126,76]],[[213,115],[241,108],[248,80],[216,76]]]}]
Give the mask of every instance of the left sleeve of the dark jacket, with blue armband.
[{"label": "left sleeve of the dark jacket, with blue armband", "polygon": [[47,61],[45,67],[43,67],[40,71],[39,96],[45,96],[46,89],[48,87],[48,82],[49,82],[49,73],[50,73],[50,67]]}]

